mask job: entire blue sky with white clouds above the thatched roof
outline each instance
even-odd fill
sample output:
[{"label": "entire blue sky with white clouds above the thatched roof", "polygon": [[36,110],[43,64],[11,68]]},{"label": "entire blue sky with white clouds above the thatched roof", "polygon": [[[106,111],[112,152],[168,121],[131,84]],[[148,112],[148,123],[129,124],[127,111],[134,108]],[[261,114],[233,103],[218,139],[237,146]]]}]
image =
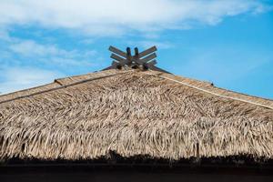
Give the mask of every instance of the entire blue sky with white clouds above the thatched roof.
[{"label": "entire blue sky with white clouds above the thatched roof", "polygon": [[0,0],[0,92],[111,64],[109,45],[157,45],[157,66],[273,99],[273,2]]}]

